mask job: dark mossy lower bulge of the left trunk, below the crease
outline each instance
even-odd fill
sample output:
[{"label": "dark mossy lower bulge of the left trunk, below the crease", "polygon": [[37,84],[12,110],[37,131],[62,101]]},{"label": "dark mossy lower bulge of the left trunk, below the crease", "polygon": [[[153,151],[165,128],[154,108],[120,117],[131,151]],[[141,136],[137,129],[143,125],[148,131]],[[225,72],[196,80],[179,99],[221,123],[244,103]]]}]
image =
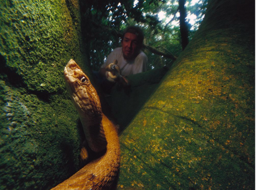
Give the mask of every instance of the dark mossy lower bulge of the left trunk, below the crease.
[{"label": "dark mossy lower bulge of the left trunk, below the crease", "polygon": [[78,169],[76,113],[21,91],[1,81],[1,189],[47,189]]}]

